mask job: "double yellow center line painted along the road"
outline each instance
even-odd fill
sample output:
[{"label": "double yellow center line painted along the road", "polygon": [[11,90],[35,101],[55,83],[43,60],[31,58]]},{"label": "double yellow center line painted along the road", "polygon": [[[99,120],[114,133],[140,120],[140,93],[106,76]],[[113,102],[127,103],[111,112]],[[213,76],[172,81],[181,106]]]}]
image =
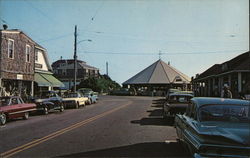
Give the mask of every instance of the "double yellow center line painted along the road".
[{"label": "double yellow center line painted along the road", "polygon": [[10,157],[10,156],[12,156],[12,155],[15,155],[15,154],[17,154],[17,153],[19,153],[19,152],[21,152],[21,151],[24,151],[24,150],[26,150],[26,149],[29,149],[29,148],[31,148],[31,147],[34,147],[34,146],[36,146],[36,145],[38,145],[38,144],[41,144],[41,143],[43,143],[43,142],[45,142],[45,141],[47,141],[47,140],[50,140],[50,139],[52,139],[52,138],[55,138],[55,137],[57,137],[57,136],[59,136],[59,135],[62,135],[62,134],[64,134],[64,133],[66,133],[66,132],[69,132],[69,131],[71,131],[71,130],[73,130],[73,129],[76,129],[76,128],[78,128],[78,127],[81,127],[81,126],[83,126],[83,125],[86,125],[87,123],[90,123],[90,122],[92,122],[92,121],[95,121],[95,120],[97,120],[97,119],[99,119],[99,118],[102,118],[102,117],[104,117],[104,116],[106,116],[106,115],[108,115],[108,114],[111,114],[111,113],[113,113],[113,112],[115,112],[115,111],[117,111],[117,110],[120,110],[120,109],[122,109],[122,108],[124,108],[124,107],[126,107],[126,106],[128,106],[128,105],[130,105],[130,104],[132,104],[132,101],[129,101],[127,104],[124,104],[124,105],[122,105],[122,106],[120,106],[120,107],[114,108],[114,109],[112,109],[112,110],[110,110],[110,111],[104,112],[104,113],[102,113],[102,114],[99,114],[99,115],[97,115],[97,116],[91,117],[91,118],[89,118],[89,119],[87,119],[87,120],[83,120],[83,121],[78,122],[78,123],[76,123],[76,124],[74,124],[74,125],[71,125],[71,126],[69,126],[69,127],[66,127],[66,128],[64,128],[64,129],[61,129],[61,130],[59,130],[59,131],[53,132],[53,133],[51,133],[51,134],[49,134],[49,135],[47,135],[47,136],[44,136],[44,137],[42,137],[42,138],[39,138],[39,139],[37,139],[37,140],[31,141],[31,142],[26,143],[26,144],[24,144],[24,145],[21,145],[21,146],[18,146],[18,147],[16,147],[16,148],[13,148],[13,149],[11,149],[11,150],[8,150],[8,151],[6,151],[6,152],[3,152],[3,153],[0,154],[0,157],[7,158],[7,157]]}]

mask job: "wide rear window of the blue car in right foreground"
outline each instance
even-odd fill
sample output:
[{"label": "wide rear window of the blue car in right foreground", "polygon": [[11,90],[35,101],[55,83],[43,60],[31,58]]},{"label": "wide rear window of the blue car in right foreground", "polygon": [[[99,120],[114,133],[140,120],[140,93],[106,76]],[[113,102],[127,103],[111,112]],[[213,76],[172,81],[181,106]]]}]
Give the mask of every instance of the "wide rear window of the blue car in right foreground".
[{"label": "wide rear window of the blue car in right foreground", "polygon": [[205,105],[199,110],[200,121],[249,122],[247,105]]}]

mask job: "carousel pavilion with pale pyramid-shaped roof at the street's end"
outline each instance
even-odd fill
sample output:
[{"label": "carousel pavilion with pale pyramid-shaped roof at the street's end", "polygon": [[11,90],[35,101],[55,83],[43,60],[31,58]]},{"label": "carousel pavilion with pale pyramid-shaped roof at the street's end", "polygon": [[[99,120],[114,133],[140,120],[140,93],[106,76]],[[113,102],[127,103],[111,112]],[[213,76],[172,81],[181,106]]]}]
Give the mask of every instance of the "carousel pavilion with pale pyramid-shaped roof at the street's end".
[{"label": "carousel pavilion with pale pyramid-shaped roof at the street's end", "polygon": [[190,80],[187,75],[160,59],[125,81],[123,86],[133,87],[137,92],[143,90],[145,95],[152,91],[164,95],[169,88],[190,89]]}]

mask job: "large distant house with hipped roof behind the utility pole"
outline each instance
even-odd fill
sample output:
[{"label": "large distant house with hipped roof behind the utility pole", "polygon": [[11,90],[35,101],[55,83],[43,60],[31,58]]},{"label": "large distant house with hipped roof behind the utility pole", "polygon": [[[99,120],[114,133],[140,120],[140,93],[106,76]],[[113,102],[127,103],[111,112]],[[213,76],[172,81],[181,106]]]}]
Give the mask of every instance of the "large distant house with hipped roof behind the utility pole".
[{"label": "large distant house with hipped roof behind the utility pole", "polygon": [[[74,85],[74,59],[60,59],[52,64],[55,76],[64,83],[67,89]],[[82,80],[89,77],[99,77],[99,69],[87,65],[86,62],[77,60],[77,81],[79,84]]]}]

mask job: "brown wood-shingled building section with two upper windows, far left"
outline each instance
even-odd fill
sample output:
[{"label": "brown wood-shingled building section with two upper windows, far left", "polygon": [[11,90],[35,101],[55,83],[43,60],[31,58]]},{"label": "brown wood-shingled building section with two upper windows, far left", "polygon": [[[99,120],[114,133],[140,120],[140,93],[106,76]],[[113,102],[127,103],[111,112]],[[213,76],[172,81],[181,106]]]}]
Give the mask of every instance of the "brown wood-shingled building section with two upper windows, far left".
[{"label": "brown wood-shingled building section with two upper windows, far left", "polygon": [[24,32],[0,30],[0,95],[33,95],[36,43]]}]

